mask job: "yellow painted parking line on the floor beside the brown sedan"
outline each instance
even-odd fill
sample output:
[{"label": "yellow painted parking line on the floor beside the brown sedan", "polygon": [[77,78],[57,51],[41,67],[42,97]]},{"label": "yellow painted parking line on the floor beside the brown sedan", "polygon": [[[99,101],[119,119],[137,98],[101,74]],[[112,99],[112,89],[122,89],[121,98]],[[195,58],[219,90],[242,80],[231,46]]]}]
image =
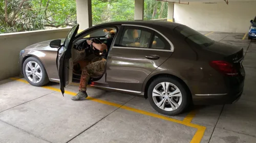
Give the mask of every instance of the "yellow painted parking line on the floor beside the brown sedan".
[{"label": "yellow painted parking line on the floor beside the brown sedan", "polygon": [[[24,83],[28,83],[26,80],[20,79],[20,78],[16,78],[16,77],[12,77],[10,79],[17,80],[17,81],[24,82]],[[59,89],[56,89],[56,88],[53,88],[53,87],[44,86],[42,88],[49,89],[49,90],[56,91],[56,92],[61,92]],[[70,92],[70,91],[65,91],[65,93],[69,94],[69,95],[72,95],[72,96],[76,95],[76,93]],[[188,126],[188,127],[196,128],[197,131],[196,131],[195,135],[193,136],[192,140],[190,141],[190,143],[200,143],[201,139],[202,139],[202,137],[204,135],[205,129],[206,129],[206,127],[204,127],[204,126],[200,126],[200,125],[196,125],[196,124],[190,123],[191,120],[196,115],[196,111],[192,111],[192,112],[188,113],[188,115],[184,118],[184,120],[181,121],[181,120],[165,117],[165,116],[162,116],[162,115],[158,115],[156,113],[152,113],[152,112],[148,112],[148,111],[132,108],[132,107],[129,107],[129,106],[124,106],[124,105],[121,105],[121,104],[116,104],[116,103],[109,102],[109,101],[104,101],[104,100],[96,99],[96,98],[93,98],[93,97],[88,97],[87,99],[95,101],[95,102],[98,102],[98,103],[107,104],[107,105],[115,106],[115,107],[122,108],[122,109],[125,109],[125,110],[130,110],[130,111],[133,111],[133,112],[141,113],[143,115],[147,115],[147,116],[163,119],[163,120],[166,120],[166,121],[179,123],[179,124],[182,124],[182,125],[185,125],[185,126]]]}]

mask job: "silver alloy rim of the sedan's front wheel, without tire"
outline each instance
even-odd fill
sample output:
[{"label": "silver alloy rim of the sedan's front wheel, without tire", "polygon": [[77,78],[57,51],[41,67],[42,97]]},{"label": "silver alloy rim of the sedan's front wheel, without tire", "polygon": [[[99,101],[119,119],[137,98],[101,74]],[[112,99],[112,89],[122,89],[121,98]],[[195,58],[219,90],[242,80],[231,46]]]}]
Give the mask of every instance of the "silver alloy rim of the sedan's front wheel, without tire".
[{"label": "silver alloy rim of the sedan's front wheel, without tire", "polygon": [[40,65],[34,61],[29,61],[26,64],[25,72],[28,79],[33,83],[38,83],[42,79],[42,69]]}]

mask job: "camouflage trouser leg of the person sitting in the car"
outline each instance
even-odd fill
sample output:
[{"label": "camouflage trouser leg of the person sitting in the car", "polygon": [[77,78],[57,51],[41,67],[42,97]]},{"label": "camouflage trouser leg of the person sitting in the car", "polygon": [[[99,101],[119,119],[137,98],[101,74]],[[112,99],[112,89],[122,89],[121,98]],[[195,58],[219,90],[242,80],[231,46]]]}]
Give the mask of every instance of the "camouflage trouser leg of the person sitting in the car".
[{"label": "camouflage trouser leg of the person sitting in the car", "polygon": [[97,57],[90,61],[86,67],[82,68],[79,91],[86,91],[90,76],[95,72],[103,72],[105,70],[105,64],[105,59]]}]

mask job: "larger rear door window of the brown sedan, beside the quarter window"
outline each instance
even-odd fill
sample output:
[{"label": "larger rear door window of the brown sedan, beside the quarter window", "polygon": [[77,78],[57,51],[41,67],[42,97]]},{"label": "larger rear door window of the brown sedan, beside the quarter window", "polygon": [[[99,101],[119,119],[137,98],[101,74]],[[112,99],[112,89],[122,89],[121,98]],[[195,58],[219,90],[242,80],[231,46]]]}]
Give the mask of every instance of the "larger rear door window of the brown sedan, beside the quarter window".
[{"label": "larger rear door window of the brown sedan, beside the quarter window", "polygon": [[126,27],[120,39],[120,46],[147,48],[152,33],[139,28]]}]

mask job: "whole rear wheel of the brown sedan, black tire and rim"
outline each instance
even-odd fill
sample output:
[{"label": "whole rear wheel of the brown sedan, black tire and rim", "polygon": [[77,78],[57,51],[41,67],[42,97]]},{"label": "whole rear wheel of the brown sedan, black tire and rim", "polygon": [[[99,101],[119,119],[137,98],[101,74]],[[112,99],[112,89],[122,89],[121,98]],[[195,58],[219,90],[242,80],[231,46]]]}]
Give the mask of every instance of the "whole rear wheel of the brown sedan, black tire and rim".
[{"label": "whole rear wheel of the brown sedan, black tire and rim", "polygon": [[[169,87],[167,92],[163,92],[163,84],[165,87]],[[159,92],[162,93],[162,96]],[[187,92],[184,84],[172,77],[159,77],[154,79],[148,87],[147,97],[151,106],[156,111],[168,116],[178,115],[185,111],[190,105],[190,94]],[[162,100],[165,101],[161,103]]]}]

